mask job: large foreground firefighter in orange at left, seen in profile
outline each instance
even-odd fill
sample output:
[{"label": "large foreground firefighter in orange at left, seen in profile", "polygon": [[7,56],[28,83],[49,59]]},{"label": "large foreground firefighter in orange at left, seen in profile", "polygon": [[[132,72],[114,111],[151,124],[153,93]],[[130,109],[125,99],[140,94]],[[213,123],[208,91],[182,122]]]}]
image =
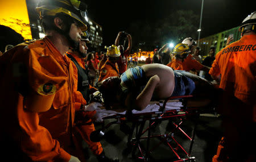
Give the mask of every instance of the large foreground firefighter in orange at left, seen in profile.
[{"label": "large foreground firefighter in orange at left, seen in profile", "polygon": [[0,57],[3,161],[80,161],[66,152],[72,146],[76,67],[65,52],[87,28],[76,8],[70,1],[40,2],[46,37]]}]

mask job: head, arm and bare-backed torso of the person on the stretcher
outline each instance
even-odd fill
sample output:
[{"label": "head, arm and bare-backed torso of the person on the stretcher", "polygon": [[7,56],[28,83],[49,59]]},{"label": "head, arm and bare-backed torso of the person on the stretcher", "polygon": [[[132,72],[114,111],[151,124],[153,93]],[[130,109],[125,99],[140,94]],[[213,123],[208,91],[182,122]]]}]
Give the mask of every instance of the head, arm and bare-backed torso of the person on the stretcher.
[{"label": "head, arm and bare-backed torso of the person on the stretcher", "polygon": [[[106,109],[144,109],[151,100],[168,98],[174,91],[174,71],[162,64],[130,68],[119,77],[101,82]],[[110,106],[110,107],[108,107]]]}]

